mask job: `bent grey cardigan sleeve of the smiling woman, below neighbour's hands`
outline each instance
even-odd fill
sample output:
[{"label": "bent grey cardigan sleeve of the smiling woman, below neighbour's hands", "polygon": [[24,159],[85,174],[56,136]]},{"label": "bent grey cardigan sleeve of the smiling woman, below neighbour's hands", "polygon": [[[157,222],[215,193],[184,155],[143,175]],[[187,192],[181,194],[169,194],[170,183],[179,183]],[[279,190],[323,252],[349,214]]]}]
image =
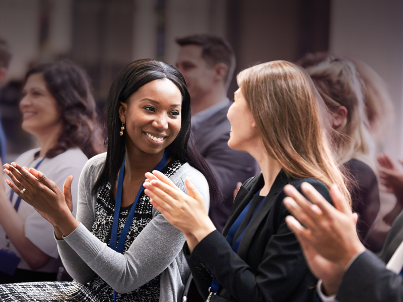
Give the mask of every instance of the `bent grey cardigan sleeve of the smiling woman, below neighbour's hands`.
[{"label": "bent grey cardigan sleeve of the smiling woman, below neighbour's hands", "polygon": [[161,214],[153,218],[124,255],[101,242],[84,225],[64,238],[83,261],[119,293],[139,288],[164,271],[185,242]]}]

